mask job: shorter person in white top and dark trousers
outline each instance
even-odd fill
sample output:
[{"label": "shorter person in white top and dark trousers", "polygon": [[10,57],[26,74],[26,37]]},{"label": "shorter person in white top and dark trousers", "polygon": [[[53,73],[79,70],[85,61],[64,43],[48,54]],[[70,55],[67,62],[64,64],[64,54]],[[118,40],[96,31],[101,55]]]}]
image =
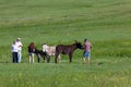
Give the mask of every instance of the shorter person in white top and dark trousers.
[{"label": "shorter person in white top and dark trousers", "polygon": [[17,63],[17,52],[19,52],[19,48],[15,45],[15,41],[13,41],[12,46],[11,46],[11,52],[12,52],[12,62],[13,63]]}]

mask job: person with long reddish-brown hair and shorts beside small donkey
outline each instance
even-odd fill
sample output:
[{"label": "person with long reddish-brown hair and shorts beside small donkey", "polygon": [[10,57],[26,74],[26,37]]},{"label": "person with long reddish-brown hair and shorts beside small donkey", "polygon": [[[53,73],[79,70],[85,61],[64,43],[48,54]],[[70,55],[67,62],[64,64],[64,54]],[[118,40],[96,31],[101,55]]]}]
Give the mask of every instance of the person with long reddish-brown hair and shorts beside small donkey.
[{"label": "person with long reddish-brown hair and shorts beside small donkey", "polygon": [[29,63],[34,63],[34,51],[35,51],[35,45],[34,42],[31,42],[29,46],[28,46],[28,60],[29,60]]}]

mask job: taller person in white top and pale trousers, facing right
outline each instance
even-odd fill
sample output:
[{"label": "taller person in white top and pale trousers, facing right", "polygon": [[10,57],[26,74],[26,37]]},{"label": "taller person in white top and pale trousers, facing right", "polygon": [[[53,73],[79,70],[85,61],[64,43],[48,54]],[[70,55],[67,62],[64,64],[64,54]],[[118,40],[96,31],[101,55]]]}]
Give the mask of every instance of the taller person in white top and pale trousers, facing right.
[{"label": "taller person in white top and pale trousers, facing right", "polygon": [[23,45],[22,45],[22,42],[21,42],[21,38],[17,38],[17,39],[16,39],[16,46],[17,46],[17,48],[19,48],[17,62],[21,63],[21,61],[22,61],[22,47],[23,47]]}]

